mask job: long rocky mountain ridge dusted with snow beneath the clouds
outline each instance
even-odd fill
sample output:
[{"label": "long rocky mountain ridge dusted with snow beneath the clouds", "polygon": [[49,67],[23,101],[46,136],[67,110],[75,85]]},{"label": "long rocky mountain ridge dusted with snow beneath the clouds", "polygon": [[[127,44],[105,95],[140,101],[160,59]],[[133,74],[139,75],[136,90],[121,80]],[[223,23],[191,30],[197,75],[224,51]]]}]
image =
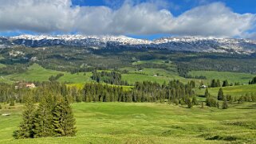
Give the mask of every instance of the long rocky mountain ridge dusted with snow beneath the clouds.
[{"label": "long rocky mountain ridge dusted with snow beneath the clouds", "polygon": [[208,53],[255,53],[256,41],[215,37],[164,37],[153,41],[125,36],[57,35],[0,37],[0,48],[13,45],[42,47],[53,45],[79,46],[97,49],[136,48],[169,49],[173,51]]}]

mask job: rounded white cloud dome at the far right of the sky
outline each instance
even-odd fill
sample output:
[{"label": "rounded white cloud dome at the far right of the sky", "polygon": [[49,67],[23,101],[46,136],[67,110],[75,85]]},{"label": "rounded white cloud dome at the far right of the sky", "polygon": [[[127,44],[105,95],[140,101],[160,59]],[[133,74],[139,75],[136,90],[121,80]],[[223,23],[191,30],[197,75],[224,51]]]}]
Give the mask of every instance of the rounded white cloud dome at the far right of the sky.
[{"label": "rounded white cloud dome at the far right of the sky", "polygon": [[215,37],[239,37],[254,27],[255,14],[236,14],[223,3],[199,6],[175,20],[172,33]]}]

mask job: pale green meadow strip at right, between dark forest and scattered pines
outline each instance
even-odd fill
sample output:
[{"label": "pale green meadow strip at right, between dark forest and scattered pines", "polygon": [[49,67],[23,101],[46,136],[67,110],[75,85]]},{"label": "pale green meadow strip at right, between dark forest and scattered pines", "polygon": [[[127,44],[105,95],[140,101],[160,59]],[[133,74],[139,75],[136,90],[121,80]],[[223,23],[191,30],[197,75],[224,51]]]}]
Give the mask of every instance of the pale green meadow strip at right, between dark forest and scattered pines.
[{"label": "pale green meadow strip at right, between dark forest and scattered pines", "polygon": [[[221,81],[228,80],[230,83],[239,82],[240,84],[248,84],[249,80],[252,80],[255,75],[249,73],[238,72],[215,72],[215,71],[192,71],[189,72],[191,76],[206,76],[207,80],[219,79]],[[208,81],[210,83],[210,81]]]}]

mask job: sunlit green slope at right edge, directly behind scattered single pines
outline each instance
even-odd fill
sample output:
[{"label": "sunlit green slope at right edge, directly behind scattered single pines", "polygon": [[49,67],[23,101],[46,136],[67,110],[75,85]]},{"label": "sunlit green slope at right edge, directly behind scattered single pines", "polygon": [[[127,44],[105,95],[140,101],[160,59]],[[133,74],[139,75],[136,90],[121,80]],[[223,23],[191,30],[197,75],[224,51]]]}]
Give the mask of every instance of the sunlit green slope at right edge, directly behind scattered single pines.
[{"label": "sunlit green slope at right edge, directly behind scattered single pines", "polygon": [[[208,88],[211,95],[218,95],[219,88]],[[204,95],[205,89],[196,89],[198,95]],[[223,88],[224,95],[241,96],[248,93],[256,93],[256,84],[252,85],[241,85]]]}]

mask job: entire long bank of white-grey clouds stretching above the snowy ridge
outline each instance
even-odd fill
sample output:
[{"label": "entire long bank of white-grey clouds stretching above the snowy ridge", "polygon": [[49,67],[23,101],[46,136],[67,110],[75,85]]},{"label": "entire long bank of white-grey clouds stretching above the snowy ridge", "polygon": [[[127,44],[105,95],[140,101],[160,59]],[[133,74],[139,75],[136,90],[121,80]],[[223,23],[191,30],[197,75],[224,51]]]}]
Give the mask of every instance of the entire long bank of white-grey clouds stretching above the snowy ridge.
[{"label": "entire long bank of white-grey clouds stretching above the snowy ridge", "polygon": [[255,14],[236,14],[215,2],[174,17],[167,1],[126,1],[117,9],[72,6],[71,0],[0,0],[0,31],[85,34],[156,34],[243,37],[255,26]]}]

